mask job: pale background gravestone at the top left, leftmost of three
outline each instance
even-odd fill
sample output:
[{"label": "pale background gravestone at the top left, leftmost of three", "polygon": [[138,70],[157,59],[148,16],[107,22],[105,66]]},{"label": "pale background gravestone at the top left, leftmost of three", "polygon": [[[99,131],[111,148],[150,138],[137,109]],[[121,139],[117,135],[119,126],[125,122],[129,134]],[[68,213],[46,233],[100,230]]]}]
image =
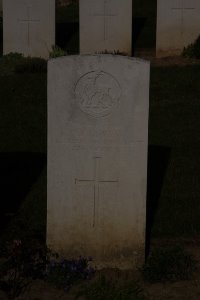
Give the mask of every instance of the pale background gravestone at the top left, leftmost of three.
[{"label": "pale background gravestone at the top left, leftmost of three", "polygon": [[4,54],[48,58],[54,44],[55,0],[4,0]]}]

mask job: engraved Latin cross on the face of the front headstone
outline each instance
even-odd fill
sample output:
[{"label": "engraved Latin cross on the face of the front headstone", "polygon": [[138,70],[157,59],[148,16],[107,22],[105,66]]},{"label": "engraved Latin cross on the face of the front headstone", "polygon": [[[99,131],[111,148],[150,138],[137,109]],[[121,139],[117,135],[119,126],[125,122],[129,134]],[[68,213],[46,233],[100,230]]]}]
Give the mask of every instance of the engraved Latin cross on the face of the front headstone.
[{"label": "engraved Latin cross on the face of the front headstone", "polygon": [[100,173],[100,160],[101,157],[94,157],[94,178],[93,179],[75,179],[75,184],[88,184],[93,186],[93,227],[95,227],[95,217],[96,217],[96,204],[99,202],[99,187],[102,184],[112,184],[118,183],[118,180],[101,180]]}]

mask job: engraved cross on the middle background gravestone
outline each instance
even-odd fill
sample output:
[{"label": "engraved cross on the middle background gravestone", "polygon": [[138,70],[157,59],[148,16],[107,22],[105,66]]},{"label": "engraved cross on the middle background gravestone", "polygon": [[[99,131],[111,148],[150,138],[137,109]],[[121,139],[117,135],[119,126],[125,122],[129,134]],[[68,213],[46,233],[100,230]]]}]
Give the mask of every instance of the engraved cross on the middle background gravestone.
[{"label": "engraved cross on the middle background gravestone", "polygon": [[95,17],[103,17],[103,36],[104,36],[104,41],[108,39],[108,20],[111,17],[116,17],[116,13],[111,12],[110,8],[110,0],[104,0],[103,2],[103,10],[99,13],[94,13],[93,16]]}]

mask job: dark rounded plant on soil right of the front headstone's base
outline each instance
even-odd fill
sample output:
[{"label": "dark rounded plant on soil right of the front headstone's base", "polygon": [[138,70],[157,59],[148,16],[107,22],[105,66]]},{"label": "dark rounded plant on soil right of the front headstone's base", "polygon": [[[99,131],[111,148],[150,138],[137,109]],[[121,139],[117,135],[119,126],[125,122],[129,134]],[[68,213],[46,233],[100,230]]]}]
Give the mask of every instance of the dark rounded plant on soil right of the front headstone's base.
[{"label": "dark rounded plant on soil right of the front headstone's base", "polygon": [[182,247],[158,248],[152,251],[142,273],[149,282],[187,280],[196,269],[192,255]]}]

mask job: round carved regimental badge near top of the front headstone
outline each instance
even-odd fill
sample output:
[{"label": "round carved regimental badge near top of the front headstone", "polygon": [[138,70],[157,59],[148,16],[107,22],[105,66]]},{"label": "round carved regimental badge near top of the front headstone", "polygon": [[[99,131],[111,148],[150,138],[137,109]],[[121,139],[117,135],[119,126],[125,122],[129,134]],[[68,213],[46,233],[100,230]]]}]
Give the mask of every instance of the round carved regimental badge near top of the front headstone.
[{"label": "round carved regimental badge near top of the front headstone", "polygon": [[93,117],[103,117],[119,103],[121,87],[111,74],[93,71],[78,80],[75,95],[83,112]]}]

